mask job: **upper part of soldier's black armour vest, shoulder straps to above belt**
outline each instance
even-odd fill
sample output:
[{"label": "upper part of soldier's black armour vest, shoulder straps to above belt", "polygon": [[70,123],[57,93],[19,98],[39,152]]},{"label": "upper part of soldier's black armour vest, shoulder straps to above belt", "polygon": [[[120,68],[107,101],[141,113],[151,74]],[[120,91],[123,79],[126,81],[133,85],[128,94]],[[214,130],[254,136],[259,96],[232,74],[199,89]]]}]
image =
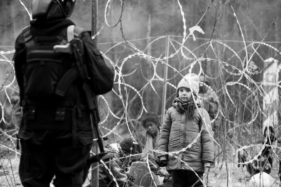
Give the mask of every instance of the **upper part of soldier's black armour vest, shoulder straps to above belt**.
[{"label": "upper part of soldier's black armour vest, shoulder straps to above belt", "polygon": [[[63,99],[54,94],[57,83],[74,66],[75,59],[73,55],[58,54],[53,49],[55,45],[67,44],[74,35],[78,36],[79,33],[69,31],[73,31],[72,26],[64,28],[58,36],[51,37],[32,37],[29,26],[23,30],[27,47],[24,67],[24,100],[27,105],[75,105],[74,90],[69,91]],[[77,30],[82,31],[80,28]]]}]

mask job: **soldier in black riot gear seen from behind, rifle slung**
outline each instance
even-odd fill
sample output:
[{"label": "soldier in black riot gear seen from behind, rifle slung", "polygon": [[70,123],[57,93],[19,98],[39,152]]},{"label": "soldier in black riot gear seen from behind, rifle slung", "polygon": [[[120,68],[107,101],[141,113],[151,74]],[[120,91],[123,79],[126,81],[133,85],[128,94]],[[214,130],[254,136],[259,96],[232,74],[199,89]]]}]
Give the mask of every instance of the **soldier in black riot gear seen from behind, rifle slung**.
[{"label": "soldier in black riot gear seen from behind, rifle slung", "polygon": [[[112,89],[114,72],[90,34],[67,19],[75,1],[32,0],[33,20],[16,39],[23,186],[49,186],[54,176],[56,187],[82,186],[93,140],[90,115],[95,113],[98,123],[97,95]],[[102,75],[95,72],[96,66],[107,76],[102,77],[107,83],[103,86],[92,78]]]}]

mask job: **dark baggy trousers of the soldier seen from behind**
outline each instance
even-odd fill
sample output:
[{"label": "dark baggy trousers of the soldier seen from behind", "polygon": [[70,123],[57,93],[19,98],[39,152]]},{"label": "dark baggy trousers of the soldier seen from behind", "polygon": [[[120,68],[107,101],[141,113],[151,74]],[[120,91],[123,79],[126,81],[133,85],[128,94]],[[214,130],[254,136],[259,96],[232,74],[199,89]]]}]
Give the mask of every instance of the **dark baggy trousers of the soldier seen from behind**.
[{"label": "dark baggy trousers of the soldier seen from behind", "polygon": [[19,174],[22,185],[49,187],[55,175],[56,187],[81,187],[88,174],[87,159],[92,144],[77,143],[72,146],[71,134],[62,133],[52,138],[47,138],[47,135],[51,136],[51,133],[42,134],[41,139],[33,136],[20,140]]}]

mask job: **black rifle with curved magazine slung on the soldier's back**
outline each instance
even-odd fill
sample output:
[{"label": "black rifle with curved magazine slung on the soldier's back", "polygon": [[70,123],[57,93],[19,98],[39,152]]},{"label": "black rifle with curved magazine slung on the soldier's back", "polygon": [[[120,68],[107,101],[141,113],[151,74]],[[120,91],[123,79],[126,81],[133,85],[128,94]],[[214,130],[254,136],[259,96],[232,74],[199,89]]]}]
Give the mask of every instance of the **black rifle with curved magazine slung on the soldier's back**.
[{"label": "black rifle with curved magazine slung on the soldier's back", "polygon": [[98,123],[100,122],[100,116],[98,111],[97,96],[91,89],[89,84],[90,77],[88,76],[88,71],[84,58],[84,45],[83,41],[79,38],[74,38],[70,43],[66,45],[56,45],[54,46],[54,52],[56,53],[69,53],[73,54],[76,59],[75,67],[70,68],[59,80],[55,94],[59,96],[64,96],[68,86],[77,78],[82,80],[82,89],[85,93],[88,110],[92,115],[92,122],[94,131],[96,133],[97,142],[100,148],[100,153],[94,156],[91,156],[88,160],[89,162],[97,162],[104,155],[104,148],[102,145],[102,138],[99,133]]}]

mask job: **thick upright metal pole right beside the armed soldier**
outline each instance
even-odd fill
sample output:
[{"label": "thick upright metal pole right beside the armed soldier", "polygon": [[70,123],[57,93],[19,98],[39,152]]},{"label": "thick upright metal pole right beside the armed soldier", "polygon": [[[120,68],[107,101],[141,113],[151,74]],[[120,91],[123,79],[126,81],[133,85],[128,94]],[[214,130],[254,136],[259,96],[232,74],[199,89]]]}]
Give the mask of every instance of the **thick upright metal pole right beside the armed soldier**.
[{"label": "thick upright metal pole right beside the armed soldier", "polygon": [[[92,22],[91,22],[91,34],[92,36],[97,33],[98,29],[98,0],[92,0]],[[97,36],[94,39],[96,46],[98,47]],[[94,129],[93,129],[94,130]],[[95,133],[94,133],[95,134]],[[94,138],[97,138],[94,136]],[[97,141],[93,142],[92,152],[98,153],[98,145]],[[91,165],[91,187],[98,187],[99,186],[99,162],[94,162]]]}]

